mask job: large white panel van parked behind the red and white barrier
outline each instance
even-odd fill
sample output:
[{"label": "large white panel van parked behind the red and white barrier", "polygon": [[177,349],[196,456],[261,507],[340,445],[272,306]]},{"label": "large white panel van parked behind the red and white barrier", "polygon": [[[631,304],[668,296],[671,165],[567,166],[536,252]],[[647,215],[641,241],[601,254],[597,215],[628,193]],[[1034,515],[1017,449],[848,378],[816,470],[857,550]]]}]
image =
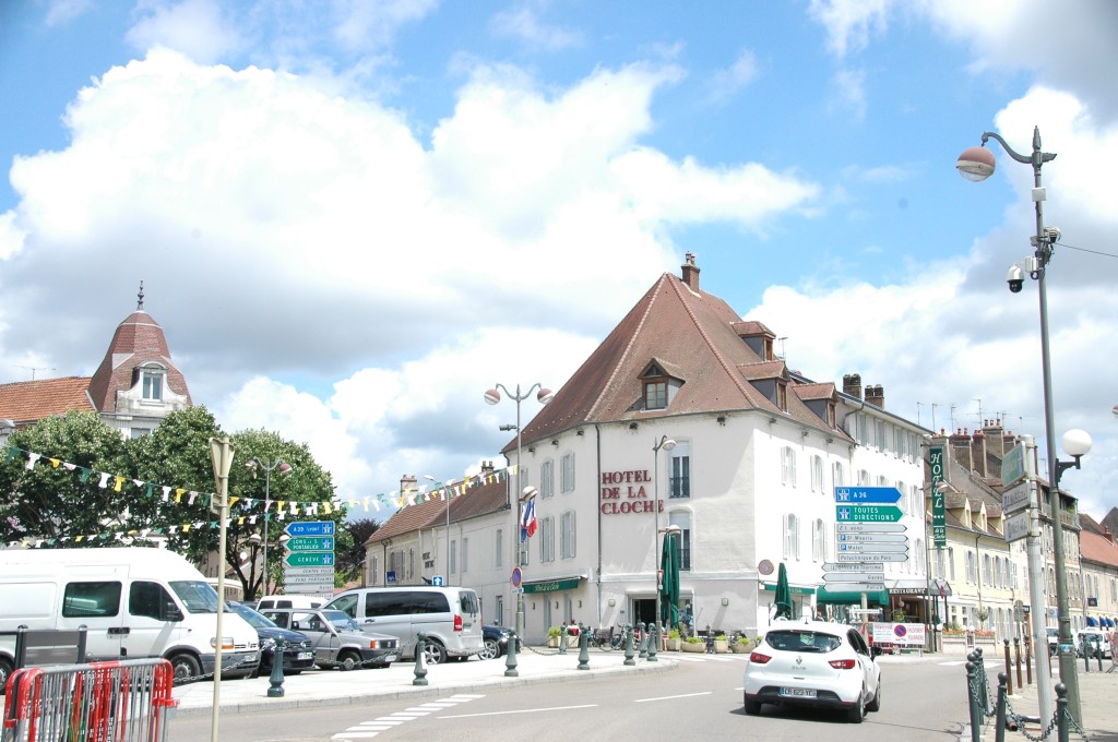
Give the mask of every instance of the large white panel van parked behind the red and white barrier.
[{"label": "large white panel van parked behind the red and white barrier", "polygon": [[[214,672],[217,591],[190,562],[165,549],[0,549],[0,682],[28,629],[86,627],[86,657],[171,662],[176,681]],[[227,610],[221,676],[259,664],[256,629]]]}]

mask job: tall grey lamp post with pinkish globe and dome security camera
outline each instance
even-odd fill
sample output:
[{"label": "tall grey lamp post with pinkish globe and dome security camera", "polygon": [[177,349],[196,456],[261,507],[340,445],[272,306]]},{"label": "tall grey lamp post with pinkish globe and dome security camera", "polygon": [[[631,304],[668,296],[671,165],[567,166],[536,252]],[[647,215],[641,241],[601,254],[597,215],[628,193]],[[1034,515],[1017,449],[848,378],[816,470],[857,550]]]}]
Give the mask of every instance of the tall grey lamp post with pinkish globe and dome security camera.
[{"label": "tall grey lamp post with pinkish globe and dome security camera", "polygon": [[[1052,551],[1055,560],[1055,594],[1057,594],[1057,620],[1060,626],[1060,681],[1068,688],[1068,711],[1072,717],[1080,722],[1082,714],[1079,697],[1079,676],[1076,669],[1076,647],[1071,636],[1071,616],[1068,609],[1068,572],[1064,567],[1063,553],[1063,523],[1060,513],[1060,474],[1067,466],[1061,466],[1055,451],[1055,425],[1052,411],[1052,364],[1049,349],[1049,326],[1048,326],[1048,285],[1045,274],[1048,264],[1052,259],[1052,244],[1060,239],[1060,230],[1054,227],[1044,226],[1043,203],[1045,198],[1044,187],[1041,184],[1041,168],[1045,162],[1055,159],[1055,153],[1041,151],[1041,130],[1033,127],[1033,150],[1029,155],[1020,154],[1011,148],[1004,139],[994,132],[985,132],[982,135],[983,146],[973,146],[959,155],[956,168],[959,174],[966,180],[977,182],[986,180],[994,173],[994,154],[985,149],[988,140],[996,140],[1005,152],[1017,162],[1030,164],[1033,168],[1033,190],[1032,200],[1036,211],[1036,235],[1030,238],[1035,248],[1032,257],[1026,258],[1023,264],[1011,266],[1007,280],[1010,291],[1018,293],[1024,283],[1024,274],[1036,282],[1040,297],[1041,314],[1041,370],[1044,386],[1044,434],[1049,464],[1049,501],[1052,512]],[[1084,434],[1086,435],[1086,434]],[[1090,448],[1088,438],[1088,449]],[[1074,446],[1076,443],[1071,441]],[[1074,466],[1079,467],[1079,457],[1086,453],[1074,454]]]}]

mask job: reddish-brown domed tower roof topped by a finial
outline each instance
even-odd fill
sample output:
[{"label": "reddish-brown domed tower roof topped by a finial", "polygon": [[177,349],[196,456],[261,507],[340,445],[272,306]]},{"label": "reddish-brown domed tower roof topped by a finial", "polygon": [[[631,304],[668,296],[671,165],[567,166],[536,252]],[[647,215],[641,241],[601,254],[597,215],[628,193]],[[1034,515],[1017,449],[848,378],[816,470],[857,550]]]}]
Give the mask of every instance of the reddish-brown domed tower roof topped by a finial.
[{"label": "reddish-brown domed tower roof topped by a finial", "polygon": [[134,383],[132,372],[149,362],[167,367],[167,386],[174,393],[184,396],[189,405],[187,380],[171,360],[163,329],[150,314],[136,310],[117,325],[105,358],[89,381],[89,397],[96,408],[102,412],[112,412],[116,407],[116,392],[131,389]]}]

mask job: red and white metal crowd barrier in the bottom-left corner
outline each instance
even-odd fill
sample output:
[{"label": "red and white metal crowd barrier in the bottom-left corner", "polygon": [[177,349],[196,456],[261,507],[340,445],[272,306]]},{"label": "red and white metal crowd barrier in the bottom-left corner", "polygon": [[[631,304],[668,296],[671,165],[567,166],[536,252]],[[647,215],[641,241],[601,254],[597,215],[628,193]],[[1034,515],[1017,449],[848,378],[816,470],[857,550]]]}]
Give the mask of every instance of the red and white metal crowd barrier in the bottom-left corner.
[{"label": "red and white metal crowd barrier in the bottom-left corner", "polygon": [[28,667],[12,673],[0,742],[162,742],[174,674],[165,659]]}]

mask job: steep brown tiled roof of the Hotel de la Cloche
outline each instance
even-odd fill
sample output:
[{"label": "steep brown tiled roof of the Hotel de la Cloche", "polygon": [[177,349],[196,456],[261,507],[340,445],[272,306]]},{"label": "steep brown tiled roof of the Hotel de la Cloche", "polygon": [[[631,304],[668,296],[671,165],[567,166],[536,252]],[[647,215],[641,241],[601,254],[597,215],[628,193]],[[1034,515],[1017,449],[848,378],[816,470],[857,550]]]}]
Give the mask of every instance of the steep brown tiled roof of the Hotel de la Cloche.
[{"label": "steep brown tiled roof of the Hotel de la Cloche", "polygon": [[[693,292],[671,274],[662,275],[555,399],[524,426],[523,441],[541,440],[586,424],[750,409],[845,438],[841,429],[828,428],[795,394],[788,396],[785,412],[749,383],[741,367],[779,363],[783,369],[784,364],[758,356],[738,334],[742,324],[722,299]],[[639,374],[652,359],[671,364],[683,381],[666,410],[638,408],[643,399]],[[511,441],[505,450],[514,446]]]}]

